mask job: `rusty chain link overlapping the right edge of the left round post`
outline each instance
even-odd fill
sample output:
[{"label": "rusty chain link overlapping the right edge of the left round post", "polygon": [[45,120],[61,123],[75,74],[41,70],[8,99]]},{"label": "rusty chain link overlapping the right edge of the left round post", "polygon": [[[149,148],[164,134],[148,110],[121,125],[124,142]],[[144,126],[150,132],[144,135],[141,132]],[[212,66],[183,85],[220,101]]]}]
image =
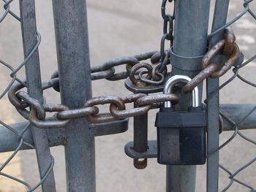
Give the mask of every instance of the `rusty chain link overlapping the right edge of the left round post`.
[{"label": "rusty chain link overlapping the right edge of the left round post", "polygon": [[[94,98],[86,101],[86,104],[84,105],[84,107],[95,107],[95,105],[97,105],[97,104],[115,104],[119,109],[125,110],[125,105],[118,96],[94,97]],[[110,113],[88,115],[88,116],[86,116],[86,119],[92,123],[105,123],[105,122],[110,122],[113,120],[118,120],[118,118],[116,118],[115,116],[113,116]]]}]

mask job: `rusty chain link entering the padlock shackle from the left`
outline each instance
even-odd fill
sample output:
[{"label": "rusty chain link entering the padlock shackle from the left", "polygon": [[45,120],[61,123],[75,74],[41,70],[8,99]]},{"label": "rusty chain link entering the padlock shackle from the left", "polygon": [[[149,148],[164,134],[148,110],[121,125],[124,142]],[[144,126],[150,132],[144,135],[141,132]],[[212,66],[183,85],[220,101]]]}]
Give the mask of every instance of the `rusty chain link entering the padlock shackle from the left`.
[{"label": "rusty chain link entering the padlock shackle from the left", "polygon": [[146,104],[156,104],[165,101],[172,101],[173,103],[177,103],[178,95],[173,93],[162,93],[157,95],[143,96],[137,99],[136,104],[138,106],[143,106]]}]

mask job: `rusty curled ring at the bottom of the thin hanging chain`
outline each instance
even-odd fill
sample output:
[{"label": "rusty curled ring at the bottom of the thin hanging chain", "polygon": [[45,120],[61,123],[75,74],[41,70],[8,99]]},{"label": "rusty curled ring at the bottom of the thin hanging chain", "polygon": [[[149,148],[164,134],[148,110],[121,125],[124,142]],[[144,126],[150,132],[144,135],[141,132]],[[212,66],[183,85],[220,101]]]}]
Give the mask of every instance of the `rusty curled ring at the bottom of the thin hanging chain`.
[{"label": "rusty curled ring at the bottom of the thin hanging chain", "polygon": [[131,72],[129,74],[129,79],[132,81],[134,85],[137,85],[138,87],[146,87],[146,82],[142,82],[141,80],[135,77],[136,72],[138,72],[138,70],[140,69],[147,69],[147,71],[144,70],[147,72],[146,79],[150,80],[152,77],[151,74],[152,74],[153,67],[147,63],[141,63],[141,64],[139,63],[139,64],[136,64],[135,66],[132,66]]}]

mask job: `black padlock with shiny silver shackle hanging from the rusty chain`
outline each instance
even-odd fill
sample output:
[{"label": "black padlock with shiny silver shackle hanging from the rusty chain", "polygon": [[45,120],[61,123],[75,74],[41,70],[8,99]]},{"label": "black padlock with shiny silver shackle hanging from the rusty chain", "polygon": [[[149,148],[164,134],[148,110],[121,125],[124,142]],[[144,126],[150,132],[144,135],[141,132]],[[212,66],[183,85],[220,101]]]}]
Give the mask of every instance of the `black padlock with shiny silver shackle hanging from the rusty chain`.
[{"label": "black padlock with shiny silver shackle hanging from the rusty chain", "polygon": [[[177,82],[189,82],[184,75],[170,77],[164,93],[171,93]],[[206,163],[206,112],[199,104],[198,88],[192,91],[187,111],[176,111],[170,101],[157,112],[157,161],[167,165]]]}]

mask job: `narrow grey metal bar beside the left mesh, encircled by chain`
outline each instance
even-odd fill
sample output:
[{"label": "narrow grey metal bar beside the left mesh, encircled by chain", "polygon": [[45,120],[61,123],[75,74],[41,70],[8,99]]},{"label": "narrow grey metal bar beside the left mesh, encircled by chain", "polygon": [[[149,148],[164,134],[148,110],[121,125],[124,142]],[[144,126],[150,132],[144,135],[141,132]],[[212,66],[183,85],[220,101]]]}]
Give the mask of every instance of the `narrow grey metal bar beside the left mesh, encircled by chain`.
[{"label": "narrow grey metal bar beside the left mesh, encircled by chain", "polygon": [[[20,0],[20,19],[23,37],[24,55],[27,57],[34,45],[37,44],[37,25],[35,16],[34,0]],[[42,103],[42,86],[39,66],[38,50],[26,62],[26,82],[28,84],[29,95]],[[45,129],[30,126],[33,134],[34,146],[37,153],[39,174],[42,178],[52,164],[50,148],[48,146],[48,136]],[[48,174],[45,182],[42,183],[42,191],[54,192],[55,181],[53,171]]]}]

